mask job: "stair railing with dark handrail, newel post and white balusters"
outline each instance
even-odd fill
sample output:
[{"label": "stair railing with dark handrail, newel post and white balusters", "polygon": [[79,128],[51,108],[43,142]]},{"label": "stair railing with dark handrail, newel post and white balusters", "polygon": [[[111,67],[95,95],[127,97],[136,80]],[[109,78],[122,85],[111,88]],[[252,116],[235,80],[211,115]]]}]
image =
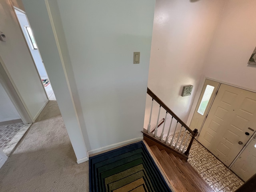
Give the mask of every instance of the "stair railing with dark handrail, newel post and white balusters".
[{"label": "stair railing with dark handrail, newel post and white balusters", "polygon": [[[147,94],[150,95],[151,98],[152,98],[152,104],[151,104],[151,109],[150,109],[150,116],[149,116],[147,132],[150,133],[150,127],[151,127],[150,123],[151,123],[151,117],[152,117],[152,108],[153,108],[153,102],[155,100],[159,104],[159,111],[158,111],[158,117],[157,117],[157,121],[156,121],[157,123],[156,124],[158,124],[158,121],[159,121],[159,116],[160,116],[161,108],[166,110],[166,114],[165,114],[165,118],[164,118],[165,119],[164,126],[162,128],[162,132],[161,132],[160,137],[157,136],[158,126],[154,130],[154,137],[159,138],[161,141],[164,141],[164,130],[165,130],[165,125],[166,125],[166,117],[167,117],[168,114],[170,114],[172,116],[172,118],[171,118],[171,122],[170,122],[170,125],[169,125],[168,134],[167,134],[166,139],[165,139],[164,142],[166,143],[166,145],[169,145],[172,148],[174,148],[175,150],[178,150],[180,153],[185,154],[186,156],[188,156],[190,148],[191,148],[192,143],[193,143],[193,140],[194,140],[194,138],[198,134],[198,130],[197,129],[191,130],[149,88],[147,90]],[[175,122],[176,122],[176,124],[175,124]],[[175,124],[175,125],[173,125],[173,124]],[[171,130],[172,125],[175,126],[175,128],[174,128],[174,132],[170,134],[170,130]],[[180,130],[178,130],[179,128],[180,128]],[[184,130],[184,128],[185,128],[185,130]],[[176,131],[176,130],[178,130],[178,131]],[[190,142],[188,144],[189,138],[190,138]],[[188,147],[187,147],[187,144],[188,144]]]}]

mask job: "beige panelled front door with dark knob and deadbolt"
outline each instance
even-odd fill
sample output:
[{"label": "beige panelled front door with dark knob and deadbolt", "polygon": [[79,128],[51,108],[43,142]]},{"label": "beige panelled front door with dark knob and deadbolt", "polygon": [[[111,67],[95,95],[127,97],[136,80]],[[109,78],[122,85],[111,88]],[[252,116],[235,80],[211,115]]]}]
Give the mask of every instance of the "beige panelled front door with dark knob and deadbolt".
[{"label": "beige panelled front door with dark knob and deadbolt", "polygon": [[221,84],[198,141],[230,166],[256,130],[256,93]]}]

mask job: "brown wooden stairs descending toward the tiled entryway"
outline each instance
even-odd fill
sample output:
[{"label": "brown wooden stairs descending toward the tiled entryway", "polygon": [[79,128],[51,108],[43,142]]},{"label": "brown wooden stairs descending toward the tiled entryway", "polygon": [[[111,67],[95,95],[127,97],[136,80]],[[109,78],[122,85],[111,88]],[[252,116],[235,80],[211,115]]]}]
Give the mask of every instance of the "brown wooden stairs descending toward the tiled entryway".
[{"label": "brown wooden stairs descending toward the tiled entryway", "polygon": [[172,153],[168,154],[166,150],[159,150],[155,145],[150,149],[174,192],[213,192],[188,162]]}]

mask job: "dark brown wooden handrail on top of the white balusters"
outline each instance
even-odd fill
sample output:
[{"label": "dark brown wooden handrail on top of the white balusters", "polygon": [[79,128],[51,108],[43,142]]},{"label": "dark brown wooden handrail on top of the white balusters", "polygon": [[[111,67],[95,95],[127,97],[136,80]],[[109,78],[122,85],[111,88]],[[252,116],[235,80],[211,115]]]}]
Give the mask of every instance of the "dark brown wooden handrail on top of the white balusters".
[{"label": "dark brown wooden handrail on top of the white balusters", "polygon": [[186,130],[188,130],[190,132],[190,134],[192,135],[192,137],[195,137],[197,135],[197,130],[192,131],[174,112],[172,112],[172,110],[170,110],[170,108],[168,108],[168,106],[166,104],[164,104],[164,102],[162,102],[162,100],[160,100],[160,98],[158,98],[149,88],[147,90],[147,94],[149,94],[152,99],[154,99],[158,104],[160,104],[160,106],[162,108],[164,108],[170,115],[172,115],[184,128],[186,128]]}]

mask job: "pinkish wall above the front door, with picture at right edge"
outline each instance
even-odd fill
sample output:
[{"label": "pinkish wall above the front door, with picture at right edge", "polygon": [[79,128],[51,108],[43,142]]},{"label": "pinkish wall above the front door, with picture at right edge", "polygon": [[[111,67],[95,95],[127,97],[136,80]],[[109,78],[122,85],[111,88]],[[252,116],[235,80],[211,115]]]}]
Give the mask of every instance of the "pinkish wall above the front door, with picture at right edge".
[{"label": "pinkish wall above the front door, with picture at right edge", "polygon": [[[223,10],[216,35],[202,72],[205,77],[256,91],[256,66],[247,62],[256,46],[254,0],[229,0]],[[190,123],[202,86],[198,89],[191,108]]]}]

